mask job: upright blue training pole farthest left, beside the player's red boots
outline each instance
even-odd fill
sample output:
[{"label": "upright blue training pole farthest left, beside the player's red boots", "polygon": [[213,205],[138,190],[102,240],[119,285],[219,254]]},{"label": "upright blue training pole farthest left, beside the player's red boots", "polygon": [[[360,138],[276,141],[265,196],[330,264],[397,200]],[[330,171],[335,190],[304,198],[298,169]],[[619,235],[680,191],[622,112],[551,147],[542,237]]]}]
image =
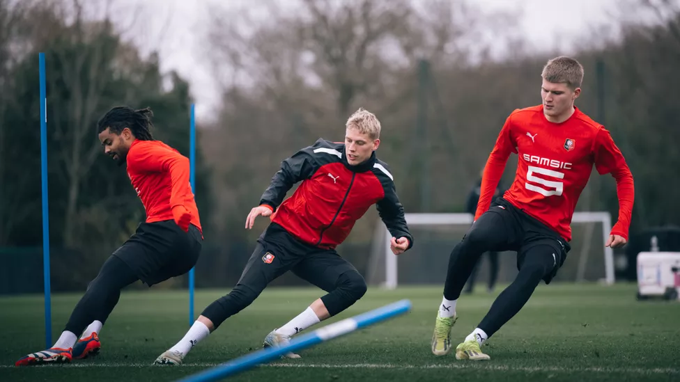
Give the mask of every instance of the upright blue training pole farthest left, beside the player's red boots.
[{"label": "upright blue training pole farthest left, beside the player's red boots", "polygon": [[45,285],[45,347],[52,347],[52,302],[49,281],[49,209],[47,208],[47,90],[45,54],[40,61],[40,169],[42,182],[42,278]]}]

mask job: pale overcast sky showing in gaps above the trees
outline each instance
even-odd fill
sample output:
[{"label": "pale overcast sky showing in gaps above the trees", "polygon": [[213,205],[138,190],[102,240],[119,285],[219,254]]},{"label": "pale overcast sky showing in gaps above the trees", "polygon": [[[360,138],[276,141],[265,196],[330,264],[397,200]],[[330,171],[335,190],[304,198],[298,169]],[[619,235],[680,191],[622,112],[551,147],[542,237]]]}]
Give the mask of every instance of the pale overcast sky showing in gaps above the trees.
[{"label": "pale overcast sky showing in gaps above the trees", "polygon": [[[280,0],[285,3],[286,0]],[[418,0],[414,0],[418,1]],[[452,0],[454,1],[454,0]],[[457,1],[457,0],[456,0]],[[240,7],[246,0],[118,0],[121,16],[130,6],[139,8],[134,33],[128,33],[143,50],[160,47],[162,71],[177,70],[192,85],[197,118],[207,114],[217,102],[217,87],[204,64],[206,14],[210,6]],[[481,10],[520,10],[520,31],[532,49],[569,54],[578,42],[597,26],[614,26],[621,8],[620,0],[474,0]],[[569,4],[569,6],[567,6]],[[141,19],[141,18],[144,19]],[[115,19],[116,17],[114,17]],[[140,23],[141,21],[141,23]],[[141,24],[141,31],[139,31]],[[166,28],[163,28],[166,26]],[[513,33],[513,34],[516,34]]]}]

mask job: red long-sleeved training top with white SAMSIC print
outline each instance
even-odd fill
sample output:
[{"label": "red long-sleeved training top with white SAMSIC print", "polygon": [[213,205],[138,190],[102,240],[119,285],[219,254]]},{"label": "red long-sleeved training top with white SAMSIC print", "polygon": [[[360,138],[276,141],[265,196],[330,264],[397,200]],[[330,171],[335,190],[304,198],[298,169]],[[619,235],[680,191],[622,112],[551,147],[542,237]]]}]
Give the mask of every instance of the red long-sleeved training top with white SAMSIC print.
[{"label": "red long-sleeved training top with white SAMSIC print", "polygon": [[628,240],[633,175],[610,133],[580,110],[562,123],[543,115],[543,105],[510,114],[489,155],[474,220],[491,204],[510,153],[518,154],[515,180],[503,198],[571,241],[571,218],[595,166],[617,183],[619,218],[611,234]]}]

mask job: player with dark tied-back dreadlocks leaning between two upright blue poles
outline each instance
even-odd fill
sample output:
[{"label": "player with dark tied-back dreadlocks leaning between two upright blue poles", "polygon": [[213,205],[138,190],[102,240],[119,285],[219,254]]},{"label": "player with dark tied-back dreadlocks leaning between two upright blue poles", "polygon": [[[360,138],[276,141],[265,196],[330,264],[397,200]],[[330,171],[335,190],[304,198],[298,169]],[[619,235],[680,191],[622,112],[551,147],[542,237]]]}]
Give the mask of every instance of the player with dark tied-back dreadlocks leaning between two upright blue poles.
[{"label": "player with dark tied-back dreadlocks leaning between two upright blue poles", "polygon": [[95,355],[101,347],[100,330],[123,287],[137,280],[151,287],[196,264],[203,235],[189,183],[189,160],[153,140],[152,115],[150,109],[120,106],[98,122],[105,154],[119,166],[127,164],[127,175],[146,209],[146,222],[104,262],[54,346],[17,360],[17,366],[67,363]]}]

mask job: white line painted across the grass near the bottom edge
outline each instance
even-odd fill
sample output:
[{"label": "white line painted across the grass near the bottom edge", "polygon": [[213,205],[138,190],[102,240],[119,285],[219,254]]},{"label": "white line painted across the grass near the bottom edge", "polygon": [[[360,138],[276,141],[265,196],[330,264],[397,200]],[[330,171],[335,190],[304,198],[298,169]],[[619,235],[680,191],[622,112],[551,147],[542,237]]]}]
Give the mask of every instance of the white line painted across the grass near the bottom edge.
[{"label": "white line painted across the grass near the bottom edge", "polygon": [[[185,363],[180,367],[215,367],[224,363]],[[0,365],[0,368],[15,367],[14,365]],[[62,365],[39,365],[33,367],[173,367],[169,365],[153,365],[149,363],[65,363]],[[590,372],[590,373],[618,373],[618,374],[680,374],[680,369],[672,367],[655,367],[644,369],[641,367],[559,367],[559,366],[518,366],[490,365],[488,363],[447,363],[433,365],[394,365],[389,363],[348,363],[348,364],[304,364],[304,363],[269,363],[258,367],[289,367],[300,369],[487,369],[517,372]]]}]

